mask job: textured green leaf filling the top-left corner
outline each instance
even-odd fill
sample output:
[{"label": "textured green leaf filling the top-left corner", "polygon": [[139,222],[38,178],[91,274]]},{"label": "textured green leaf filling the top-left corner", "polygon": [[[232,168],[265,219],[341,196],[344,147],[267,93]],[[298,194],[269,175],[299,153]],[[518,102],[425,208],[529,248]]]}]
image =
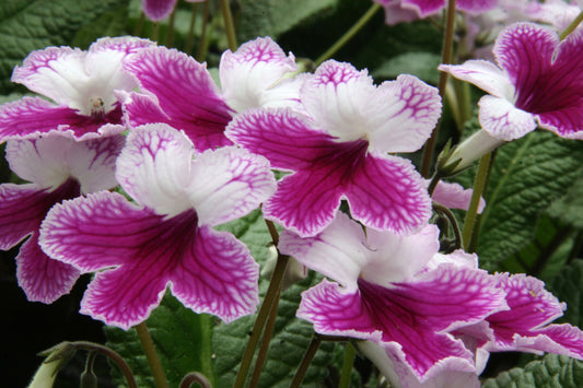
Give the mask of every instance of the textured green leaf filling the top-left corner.
[{"label": "textured green leaf filling the top-left corner", "polygon": [[[123,34],[119,19],[129,0],[3,0],[0,7],[0,93],[16,89],[12,69],[28,52],[75,42],[82,48],[104,33]],[[109,16],[106,16],[109,14]],[[121,13],[123,15],[123,13]],[[112,23],[108,20],[112,19]],[[117,24],[116,24],[117,23]],[[105,30],[104,30],[105,28]],[[78,36],[79,34],[79,36]]]}]

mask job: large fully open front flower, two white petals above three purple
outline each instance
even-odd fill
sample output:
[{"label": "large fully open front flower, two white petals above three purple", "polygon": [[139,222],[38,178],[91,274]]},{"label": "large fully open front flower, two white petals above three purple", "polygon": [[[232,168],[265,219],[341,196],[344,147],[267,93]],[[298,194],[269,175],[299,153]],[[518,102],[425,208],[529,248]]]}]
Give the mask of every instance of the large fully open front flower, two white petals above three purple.
[{"label": "large fully open front flower, two white petals above three purple", "polygon": [[186,307],[224,321],[258,303],[258,264],[218,224],[255,209],[276,187],[269,163],[245,150],[195,153],[163,125],[135,128],[116,177],[138,204],[101,191],[55,207],[40,245],[83,272],[97,271],[81,313],[127,329],[148,318],[170,286]]}]

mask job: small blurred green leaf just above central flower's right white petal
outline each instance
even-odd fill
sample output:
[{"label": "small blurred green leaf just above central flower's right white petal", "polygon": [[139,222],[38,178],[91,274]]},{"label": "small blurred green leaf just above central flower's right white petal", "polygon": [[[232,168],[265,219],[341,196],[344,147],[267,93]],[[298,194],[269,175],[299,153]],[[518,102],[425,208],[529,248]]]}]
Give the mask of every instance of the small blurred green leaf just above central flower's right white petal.
[{"label": "small blurred green leaf just above central flower's right white petal", "polygon": [[374,69],[372,75],[375,79],[396,79],[397,75],[407,73],[419,77],[421,80],[438,84],[440,74],[438,66],[441,56],[433,52],[406,52],[388,59]]}]

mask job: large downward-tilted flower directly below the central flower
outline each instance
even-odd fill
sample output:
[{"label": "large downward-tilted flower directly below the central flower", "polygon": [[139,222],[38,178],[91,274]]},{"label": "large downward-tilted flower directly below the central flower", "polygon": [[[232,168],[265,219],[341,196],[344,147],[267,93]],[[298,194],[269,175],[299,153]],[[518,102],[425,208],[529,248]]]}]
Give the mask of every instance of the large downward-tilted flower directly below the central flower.
[{"label": "large downward-tilted flower directly below the central flower", "polygon": [[[508,308],[486,271],[436,255],[439,230],[397,236],[368,230],[339,213],[319,235],[283,232],[279,248],[324,280],[302,294],[298,317],[324,334],[371,340],[419,381],[443,371],[475,372],[473,353],[448,332]],[[442,257],[443,256],[443,257]],[[401,371],[403,372],[403,371]]]}]

